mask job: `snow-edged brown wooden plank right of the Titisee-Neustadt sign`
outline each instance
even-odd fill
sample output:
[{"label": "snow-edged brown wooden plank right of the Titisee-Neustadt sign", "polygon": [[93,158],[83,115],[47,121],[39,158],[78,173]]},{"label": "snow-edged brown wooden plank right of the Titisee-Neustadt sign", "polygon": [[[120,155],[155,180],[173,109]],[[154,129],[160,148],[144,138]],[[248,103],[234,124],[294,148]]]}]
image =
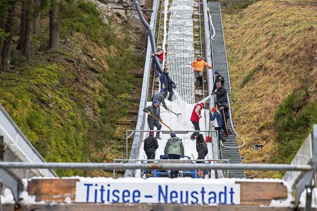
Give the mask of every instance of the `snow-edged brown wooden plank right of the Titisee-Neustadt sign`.
[{"label": "snow-edged brown wooden plank right of the Titisee-Neustadt sign", "polygon": [[272,199],[286,199],[287,188],[282,182],[236,182],[240,184],[242,205],[269,205]]}]

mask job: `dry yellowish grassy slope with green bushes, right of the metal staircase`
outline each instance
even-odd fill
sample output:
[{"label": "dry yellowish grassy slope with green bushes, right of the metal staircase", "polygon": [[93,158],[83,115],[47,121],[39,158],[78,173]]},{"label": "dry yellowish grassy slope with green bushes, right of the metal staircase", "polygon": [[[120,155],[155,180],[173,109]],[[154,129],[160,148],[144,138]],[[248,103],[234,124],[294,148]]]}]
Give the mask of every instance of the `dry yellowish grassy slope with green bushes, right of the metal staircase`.
[{"label": "dry yellowish grassy slope with green bushes, right of the metal staircase", "polygon": [[[238,7],[235,7],[238,8]],[[245,163],[290,163],[317,123],[317,4],[260,0],[224,9],[237,132]],[[263,150],[253,151],[255,144]],[[281,177],[281,172],[247,172]]]}]

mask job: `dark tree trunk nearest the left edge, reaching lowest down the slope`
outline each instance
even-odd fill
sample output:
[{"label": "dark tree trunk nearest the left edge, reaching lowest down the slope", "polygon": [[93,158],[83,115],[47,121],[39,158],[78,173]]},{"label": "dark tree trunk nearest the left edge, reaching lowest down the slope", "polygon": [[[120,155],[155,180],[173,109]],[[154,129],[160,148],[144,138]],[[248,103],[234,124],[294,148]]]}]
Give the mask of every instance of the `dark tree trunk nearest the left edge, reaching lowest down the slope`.
[{"label": "dark tree trunk nearest the left edge, reaching lowest down the slope", "polygon": [[5,33],[7,37],[3,41],[2,53],[1,53],[1,68],[4,70],[10,70],[10,58],[11,58],[11,45],[13,40],[13,18],[15,10],[15,1],[10,1],[10,7],[8,11],[7,21],[5,24]]}]

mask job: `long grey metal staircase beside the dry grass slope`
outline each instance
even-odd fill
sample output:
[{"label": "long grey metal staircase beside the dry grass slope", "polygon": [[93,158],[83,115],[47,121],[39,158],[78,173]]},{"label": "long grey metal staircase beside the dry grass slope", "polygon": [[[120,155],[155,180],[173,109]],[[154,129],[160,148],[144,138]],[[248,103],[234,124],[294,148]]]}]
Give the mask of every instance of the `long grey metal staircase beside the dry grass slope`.
[{"label": "long grey metal staircase beside the dry grass slope", "polygon": [[[222,19],[221,19],[221,10],[220,3],[218,1],[209,1],[208,2],[209,12],[211,14],[212,24],[215,30],[215,36],[211,40],[211,51],[212,51],[212,66],[213,70],[217,70],[225,80],[224,87],[227,90],[228,97],[231,101],[231,86],[230,86],[230,77],[228,71],[228,62],[227,54],[224,42],[223,28],[222,28]],[[231,118],[233,111],[231,110]],[[232,130],[230,121],[228,121],[228,128]],[[234,133],[226,137],[225,146],[227,147],[237,147],[237,140]],[[228,149],[222,147],[221,149],[222,159],[229,159],[230,164],[239,164],[242,163],[242,159],[239,155],[239,149]],[[227,172],[224,173],[227,175]],[[246,175],[243,170],[229,170],[230,177],[236,178],[245,178]]]}]

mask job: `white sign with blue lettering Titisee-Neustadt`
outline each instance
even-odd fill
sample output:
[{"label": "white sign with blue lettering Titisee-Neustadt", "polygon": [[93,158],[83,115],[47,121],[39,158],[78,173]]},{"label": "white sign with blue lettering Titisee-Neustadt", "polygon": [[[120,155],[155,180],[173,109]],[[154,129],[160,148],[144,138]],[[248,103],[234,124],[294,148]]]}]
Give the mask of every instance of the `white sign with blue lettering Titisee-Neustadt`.
[{"label": "white sign with blue lettering Titisee-Neustadt", "polygon": [[76,182],[75,202],[240,204],[240,184]]}]

